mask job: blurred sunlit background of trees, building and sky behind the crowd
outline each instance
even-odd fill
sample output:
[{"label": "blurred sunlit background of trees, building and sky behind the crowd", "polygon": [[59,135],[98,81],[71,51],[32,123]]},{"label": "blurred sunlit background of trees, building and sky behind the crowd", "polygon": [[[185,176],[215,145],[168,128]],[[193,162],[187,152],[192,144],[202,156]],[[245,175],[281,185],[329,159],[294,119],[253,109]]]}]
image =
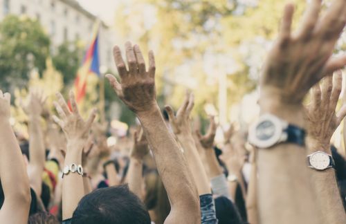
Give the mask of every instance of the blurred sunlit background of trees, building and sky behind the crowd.
[{"label": "blurred sunlit background of trees, building and sky behind the crowd", "polygon": [[[185,89],[196,96],[194,116],[241,129],[259,113],[257,80],[277,34],[284,0],[0,0],[0,87],[15,95],[12,124],[26,135],[19,98],[43,88],[53,111],[54,93],[73,88],[75,75],[100,20],[100,73],[117,75],[112,47],[126,40],[156,55],[160,106],[175,109]],[[296,0],[295,24],[307,1]],[[328,4],[329,1],[325,1]],[[296,26],[297,27],[297,26]],[[346,32],[336,54],[345,53]],[[108,82],[90,75],[82,113],[100,108],[118,135],[136,124]],[[103,97],[104,88],[104,97]],[[104,105],[104,106],[103,106]],[[100,115],[102,117],[102,115]],[[340,133],[340,130],[338,130]],[[337,137],[340,135],[337,135]],[[218,137],[221,138],[221,137]],[[112,138],[110,139],[110,141]],[[341,139],[334,143],[341,147]]]}]

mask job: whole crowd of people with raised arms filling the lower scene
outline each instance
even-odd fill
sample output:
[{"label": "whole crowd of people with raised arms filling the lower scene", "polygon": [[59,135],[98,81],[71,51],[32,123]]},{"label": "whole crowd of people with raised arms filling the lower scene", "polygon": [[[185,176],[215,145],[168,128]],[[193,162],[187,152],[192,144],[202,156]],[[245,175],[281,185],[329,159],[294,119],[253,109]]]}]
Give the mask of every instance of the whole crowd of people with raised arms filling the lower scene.
[{"label": "whole crowd of people with raised arms filling the lower scene", "polygon": [[22,138],[0,91],[0,223],[345,224],[346,162],[331,137],[346,115],[346,94],[336,109],[346,56],[332,55],[346,1],[320,10],[311,0],[292,32],[286,5],[260,74],[260,118],[247,132],[230,125],[223,144],[215,118],[204,135],[192,122],[192,92],[176,113],[158,107],[154,53],[145,64],[129,41],[126,60],[113,48],[120,80],[106,77],[140,126],[112,147],[108,124],[94,121],[95,109],[82,118],[72,91],[56,94],[51,115],[42,91],[30,90]]}]

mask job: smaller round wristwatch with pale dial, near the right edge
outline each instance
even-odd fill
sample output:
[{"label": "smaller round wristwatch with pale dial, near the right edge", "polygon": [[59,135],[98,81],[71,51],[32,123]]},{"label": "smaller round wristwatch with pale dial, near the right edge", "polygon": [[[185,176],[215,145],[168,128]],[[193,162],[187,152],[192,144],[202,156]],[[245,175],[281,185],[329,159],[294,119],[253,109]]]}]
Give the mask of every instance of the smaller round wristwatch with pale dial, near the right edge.
[{"label": "smaller round wristwatch with pale dial, near the right edge", "polygon": [[316,169],[318,171],[335,167],[333,157],[323,151],[316,151],[307,156],[307,165],[311,169]]}]

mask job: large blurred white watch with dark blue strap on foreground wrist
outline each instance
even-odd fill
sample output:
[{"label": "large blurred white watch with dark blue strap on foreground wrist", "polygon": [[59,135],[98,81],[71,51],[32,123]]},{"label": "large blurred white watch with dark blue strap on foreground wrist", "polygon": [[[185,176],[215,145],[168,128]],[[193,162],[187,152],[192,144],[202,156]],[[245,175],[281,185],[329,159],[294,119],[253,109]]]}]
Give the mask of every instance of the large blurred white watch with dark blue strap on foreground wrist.
[{"label": "large blurred white watch with dark blue strap on foreground wrist", "polygon": [[305,131],[300,127],[264,114],[248,131],[248,142],[258,148],[269,148],[275,144],[287,142],[304,146]]}]

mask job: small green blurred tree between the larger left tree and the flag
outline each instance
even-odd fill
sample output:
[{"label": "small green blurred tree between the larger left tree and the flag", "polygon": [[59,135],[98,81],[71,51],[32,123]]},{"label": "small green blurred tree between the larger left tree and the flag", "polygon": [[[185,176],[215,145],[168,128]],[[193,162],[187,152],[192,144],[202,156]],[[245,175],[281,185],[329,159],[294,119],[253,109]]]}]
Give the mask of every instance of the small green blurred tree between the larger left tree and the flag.
[{"label": "small green blurred tree between the larger left tree and the flag", "polygon": [[52,57],[53,64],[62,73],[65,84],[71,84],[75,80],[83,52],[77,42],[64,42],[57,47],[57,52]]}]

